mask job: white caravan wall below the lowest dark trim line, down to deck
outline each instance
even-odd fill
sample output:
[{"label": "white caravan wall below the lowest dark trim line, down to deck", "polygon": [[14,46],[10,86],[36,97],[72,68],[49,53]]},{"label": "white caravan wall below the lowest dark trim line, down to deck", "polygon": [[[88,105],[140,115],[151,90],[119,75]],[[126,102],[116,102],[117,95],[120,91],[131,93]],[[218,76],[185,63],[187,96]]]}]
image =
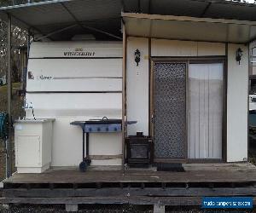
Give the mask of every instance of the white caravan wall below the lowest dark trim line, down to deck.
[{"label": "white caravan wall below the lowest dark trim line, down to deck", "polygon": [[[55,118],[52,166],[78,166],[82,159],[82,130],[70,125],[75,120],[121,118],[122,94],[26,94],[36,118]],[[26,110],[26,118],[32,110]],[[121,154],[120,134],[90,136],[90,154]],[[101,148],[99,148],[101,147]],[[94,160],[94,165],[120,165],[121,160]]]}]

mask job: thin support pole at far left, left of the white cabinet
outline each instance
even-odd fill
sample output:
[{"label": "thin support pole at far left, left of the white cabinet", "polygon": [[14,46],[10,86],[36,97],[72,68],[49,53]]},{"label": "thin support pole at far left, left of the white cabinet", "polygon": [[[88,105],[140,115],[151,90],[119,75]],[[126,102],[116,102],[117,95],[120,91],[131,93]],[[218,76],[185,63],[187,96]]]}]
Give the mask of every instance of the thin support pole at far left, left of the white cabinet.
[{"label": "thin support pole at far left, left of the white cabinet", "polygon": [[7,22],[7,112],[9,114],[9,139],[6,141],[6,177],[12,174],[12,144],[11,144],[11,130],[12,130],[12,73],[11,73],[11,16],[8,15]]}]

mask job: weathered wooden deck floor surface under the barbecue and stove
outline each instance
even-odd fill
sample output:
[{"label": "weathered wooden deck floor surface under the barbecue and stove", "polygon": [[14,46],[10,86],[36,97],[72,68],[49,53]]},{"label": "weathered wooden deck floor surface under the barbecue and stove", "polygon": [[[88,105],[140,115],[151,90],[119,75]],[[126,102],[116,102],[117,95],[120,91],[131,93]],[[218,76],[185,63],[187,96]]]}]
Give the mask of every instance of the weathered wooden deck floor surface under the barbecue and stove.
[{"label": "weathered wooden deck floor surface under the barbecue and stove", "polygon": [[[47,170],[41,174],[17,174],[3,181],[6,183],[93,183],[93,182],[256,182],[256,167],[252,164],[206,164],[192,167],[185,172],[154,170]],[[188,166],[188,167],[189,167]],[[197,170],[195,170],[197,168]],[[212,170],[211,170],[212,168]],[[216,169],[217,168],[217,169]]]}]

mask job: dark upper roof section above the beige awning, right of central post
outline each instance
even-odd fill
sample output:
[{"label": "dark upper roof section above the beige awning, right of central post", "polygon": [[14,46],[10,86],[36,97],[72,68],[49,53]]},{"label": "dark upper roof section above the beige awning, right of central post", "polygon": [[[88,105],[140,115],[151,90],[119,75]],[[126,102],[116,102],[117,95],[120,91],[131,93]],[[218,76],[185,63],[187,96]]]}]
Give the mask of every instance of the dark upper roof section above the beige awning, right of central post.
[{"label": "dark upper roof section above the beige awning, right of central post", "polygon": [[[256,5],[224,0],[124,0],[125,12],[256,20]],[[139,3],[140,2],[140,3]]]}]

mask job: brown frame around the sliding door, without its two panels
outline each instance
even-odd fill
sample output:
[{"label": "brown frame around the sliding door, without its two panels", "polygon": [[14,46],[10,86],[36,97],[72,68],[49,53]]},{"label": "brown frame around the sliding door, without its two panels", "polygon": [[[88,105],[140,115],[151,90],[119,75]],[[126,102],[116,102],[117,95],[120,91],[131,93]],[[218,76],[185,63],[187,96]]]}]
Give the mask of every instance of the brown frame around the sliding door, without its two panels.
[{"label": "brown frame around the sliding door, without its two panels", "polygon": [[[185,141],[185,158],[154,158],[154,163],[222,163],[226,162],[226,138],[227,138],[227,57],[226,56],[205,56],[205,57],[151,57],[149,67],[149,135],[154,139],[154,64],[155,63],[185,63],[186,64],[186,141]],[[189,116],[189,64],[223,64],[223,122],[222,122],[222,158],[188,158],[188,116]],[[154,140],[153,140],[154,141]]]}]

